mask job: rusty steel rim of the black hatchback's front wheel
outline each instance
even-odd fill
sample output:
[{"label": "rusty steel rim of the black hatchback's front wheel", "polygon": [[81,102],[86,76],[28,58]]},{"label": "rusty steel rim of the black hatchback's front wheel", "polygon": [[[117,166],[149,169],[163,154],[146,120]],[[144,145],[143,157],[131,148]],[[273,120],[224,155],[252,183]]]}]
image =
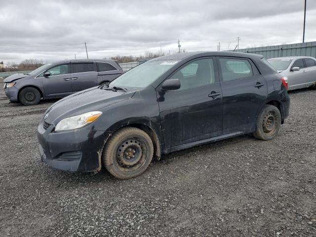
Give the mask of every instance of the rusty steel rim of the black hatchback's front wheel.
[{"label": "rusty steel rim of the black hatchback's front wheel", "polygon": [[138,137],[124,139],[118,146],[116,162],[122,171],[134,171],[146,161],[147,147],[145,142]]}]

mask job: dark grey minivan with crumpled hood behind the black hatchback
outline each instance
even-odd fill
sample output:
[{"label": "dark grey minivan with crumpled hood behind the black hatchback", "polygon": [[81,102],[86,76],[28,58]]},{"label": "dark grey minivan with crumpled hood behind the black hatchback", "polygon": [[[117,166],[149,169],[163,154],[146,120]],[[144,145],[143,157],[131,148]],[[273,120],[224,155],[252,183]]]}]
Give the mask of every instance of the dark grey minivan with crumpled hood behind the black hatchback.
[{"label": "dark grey minivan with crumpled hood behind the black hatchback", "polygon": [[47,63],[29,74],[14,74],[3,80],[11,102],[36,105],[40,99],[63,98],[97,85],[107,85],[123,74],[111,59],[77,59]]}]

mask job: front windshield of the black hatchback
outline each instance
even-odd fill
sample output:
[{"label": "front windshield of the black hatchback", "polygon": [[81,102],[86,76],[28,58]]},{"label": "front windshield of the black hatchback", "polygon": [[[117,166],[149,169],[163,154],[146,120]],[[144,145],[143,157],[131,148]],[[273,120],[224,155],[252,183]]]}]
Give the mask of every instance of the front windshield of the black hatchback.
[{"label": "front windshield of the black hatchback", "polygon": [[176,60],[151,60],[143,63],[123,75],[109,84],[109,87],[134,87],[144,88],[150,85],[153,81],[158,79],[168,69],[173,67],[178,61]]}]

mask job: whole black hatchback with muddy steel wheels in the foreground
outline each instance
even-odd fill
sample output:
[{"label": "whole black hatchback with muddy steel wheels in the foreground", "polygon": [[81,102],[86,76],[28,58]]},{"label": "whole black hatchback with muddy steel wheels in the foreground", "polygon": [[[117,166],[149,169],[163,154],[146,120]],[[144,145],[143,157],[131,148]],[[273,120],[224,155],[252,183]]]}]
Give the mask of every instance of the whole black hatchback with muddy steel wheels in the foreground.
[{"label": "whole black hatchback with muddy steel wheels in the foreground", "polygon": [[38,126],[41,158],[61,170],[105,166],[127,179],[162,154],[247,133],[270,140],[289,114],[286,89],[260,55],[156,58],[48,108]]}]

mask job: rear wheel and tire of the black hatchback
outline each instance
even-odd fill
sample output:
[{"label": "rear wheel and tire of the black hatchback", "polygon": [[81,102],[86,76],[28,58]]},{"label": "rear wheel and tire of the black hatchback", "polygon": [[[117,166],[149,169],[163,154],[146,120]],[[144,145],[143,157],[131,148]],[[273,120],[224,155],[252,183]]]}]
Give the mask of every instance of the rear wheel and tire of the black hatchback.
[{"label": "rear wheel and tire of the black hatchback", "polygon": [[265,105],[257,118],[256,131],[253,133],[253,136],[265,141],[271,140],[276,137],[280,126],[280,111],[276,106]]}]

